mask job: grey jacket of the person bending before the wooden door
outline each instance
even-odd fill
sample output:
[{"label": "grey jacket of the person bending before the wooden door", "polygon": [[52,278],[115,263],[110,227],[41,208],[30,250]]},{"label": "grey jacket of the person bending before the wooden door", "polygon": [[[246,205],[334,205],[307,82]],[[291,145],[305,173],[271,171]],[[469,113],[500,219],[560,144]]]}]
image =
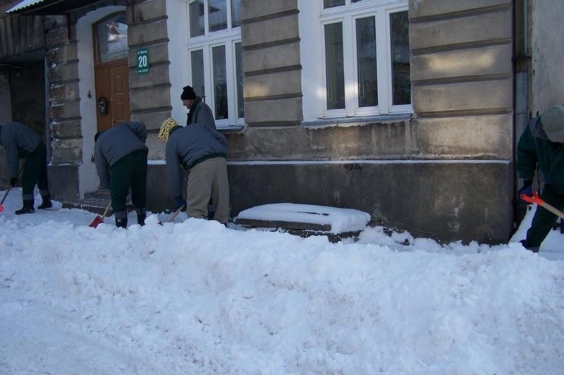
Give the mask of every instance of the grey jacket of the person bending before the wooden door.
[{"label": "grey jacket of the person bending before the wooden door", "polygon": [[144,123],[137,121],[120,123],[114,128],[99,133],[94,145],[94,162],[100,178],[101,187],[110,185],[110,169],[123,156],[132,152],[145,151],[147,146],[147,128]]}]

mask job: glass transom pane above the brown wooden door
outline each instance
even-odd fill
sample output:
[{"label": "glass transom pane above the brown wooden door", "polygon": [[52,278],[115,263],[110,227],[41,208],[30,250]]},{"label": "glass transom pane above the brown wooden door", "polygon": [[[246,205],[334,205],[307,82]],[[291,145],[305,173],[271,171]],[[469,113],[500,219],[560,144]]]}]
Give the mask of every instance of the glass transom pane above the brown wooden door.
[{"label": "glass transom pane above the brown wooden door", "polygon": [[128,56],[128,25],[125,13],[118,13],[96,25],[98,62],[123,59]]}]

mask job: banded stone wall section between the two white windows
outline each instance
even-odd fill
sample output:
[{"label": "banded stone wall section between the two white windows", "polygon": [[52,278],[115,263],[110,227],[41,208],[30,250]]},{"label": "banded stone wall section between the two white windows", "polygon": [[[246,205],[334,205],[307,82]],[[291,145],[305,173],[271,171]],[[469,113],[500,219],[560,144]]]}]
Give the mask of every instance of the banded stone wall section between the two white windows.
[{"label": "banded stone wall section between the two white windows", "polygon": [[296,0],[241,1],[245,122],[297,125],[302,119]]}]

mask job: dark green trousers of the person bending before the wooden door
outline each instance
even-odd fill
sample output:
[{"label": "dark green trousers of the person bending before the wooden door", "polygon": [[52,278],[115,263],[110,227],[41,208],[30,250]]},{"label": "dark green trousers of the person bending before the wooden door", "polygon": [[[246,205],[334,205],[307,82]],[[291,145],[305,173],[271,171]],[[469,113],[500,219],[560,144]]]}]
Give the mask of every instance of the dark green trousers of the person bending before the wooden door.
[{"label": "dark green trousers of the person bending before the wooden door", "polygon": [[[125,199],[131,188],[131,202],[137,213],[145,213],[147,201],[147,152],[132,152],[110,167],[111,208],[119,216],[127,217]],[[123,219],[122,217],[122,219]]]}]

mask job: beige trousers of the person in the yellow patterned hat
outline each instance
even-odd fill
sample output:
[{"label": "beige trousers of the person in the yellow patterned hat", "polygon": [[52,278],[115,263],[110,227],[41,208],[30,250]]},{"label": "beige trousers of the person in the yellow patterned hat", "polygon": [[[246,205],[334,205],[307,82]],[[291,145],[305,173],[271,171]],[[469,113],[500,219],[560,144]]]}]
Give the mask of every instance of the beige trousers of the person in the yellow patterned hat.
[{"label": "beige trousers of the person in the yellow patterned hat", "polygon": [[229,183],[225,158],[207,159],[190,168],[188,175],[188,217],[207,219],[209,198],[216,211],[214,220],[227,223],[229,219]]}]

